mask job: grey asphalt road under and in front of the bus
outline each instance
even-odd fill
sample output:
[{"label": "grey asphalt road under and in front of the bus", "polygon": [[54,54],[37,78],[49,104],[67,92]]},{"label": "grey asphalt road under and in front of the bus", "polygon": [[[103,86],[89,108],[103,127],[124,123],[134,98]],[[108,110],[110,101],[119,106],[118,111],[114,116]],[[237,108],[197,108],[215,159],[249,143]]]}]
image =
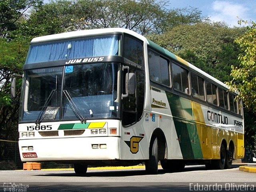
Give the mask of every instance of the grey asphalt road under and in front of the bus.
[{"label": "grey asphalt road under and in front of the bus", "polygon": [[159,170],[157,175],[147,175],[142,168],[89,169],[85,175],[74,170],[0,171],[0,192],[183,192],[199,191],[200,186],[207,187],[204,191],[255,191],[256,174],[239,171],[236,165],[229,170],[186,166],[182,172]]}]

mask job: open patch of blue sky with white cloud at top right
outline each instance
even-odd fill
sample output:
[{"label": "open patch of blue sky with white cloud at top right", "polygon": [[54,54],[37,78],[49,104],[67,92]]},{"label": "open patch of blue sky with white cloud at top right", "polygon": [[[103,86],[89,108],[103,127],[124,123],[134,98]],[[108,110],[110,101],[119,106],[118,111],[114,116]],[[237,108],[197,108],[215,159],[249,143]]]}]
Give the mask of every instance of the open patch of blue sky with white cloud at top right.
[{"label": "open patch of blue sky with white cloud at top right", "polygon": [[211,21],[224,21],[230,27],[238,25],[238,18],[256,21],[256,0],[169,0],[170,8],[194,7]]}]

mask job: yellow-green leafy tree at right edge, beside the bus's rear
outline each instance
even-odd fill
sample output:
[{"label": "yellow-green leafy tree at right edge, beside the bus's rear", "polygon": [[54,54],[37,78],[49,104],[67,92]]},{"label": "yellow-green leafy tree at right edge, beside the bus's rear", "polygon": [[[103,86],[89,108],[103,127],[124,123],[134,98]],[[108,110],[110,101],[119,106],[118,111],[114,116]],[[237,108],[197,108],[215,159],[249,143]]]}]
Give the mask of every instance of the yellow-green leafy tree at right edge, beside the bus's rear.
[{"label": "yellow-green leafy tree at right edge, beside the bus's rear", "polygon": [[[244,22],[244,21],[240,21]],[[256,149],[256,23],[247,27],[246,33],[236,38],[240,47],[239,65],[232,65],[232,80],[228,85],[239,92],[245,109],[245,145],[250,150]]]}]

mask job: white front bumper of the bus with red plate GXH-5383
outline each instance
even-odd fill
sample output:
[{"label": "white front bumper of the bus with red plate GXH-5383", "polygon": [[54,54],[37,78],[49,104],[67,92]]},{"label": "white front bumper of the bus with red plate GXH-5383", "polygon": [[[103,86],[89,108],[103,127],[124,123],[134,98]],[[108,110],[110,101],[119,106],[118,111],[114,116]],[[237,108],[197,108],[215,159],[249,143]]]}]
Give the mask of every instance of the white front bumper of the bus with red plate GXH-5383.
[{"label": "white front bumper of the bus with red plate GXH-5383", "polygon": [[120,159],[119,137],[19,140],[22,162]]}]

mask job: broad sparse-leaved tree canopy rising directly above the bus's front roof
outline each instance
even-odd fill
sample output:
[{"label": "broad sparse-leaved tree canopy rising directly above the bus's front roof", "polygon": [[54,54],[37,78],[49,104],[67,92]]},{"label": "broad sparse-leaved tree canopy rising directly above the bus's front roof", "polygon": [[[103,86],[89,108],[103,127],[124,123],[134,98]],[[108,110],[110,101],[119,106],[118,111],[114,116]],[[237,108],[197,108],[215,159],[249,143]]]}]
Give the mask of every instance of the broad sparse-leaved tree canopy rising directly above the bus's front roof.
[{"label": "broad sparse-leaved tree canopy rising directly above the bus's front roof", "polygon": [[168,9],[164,0],[57,0],[33,10],[22,27],[42,35],[72,30],[120,27],[142,35],[162,34],[177,25],[202,22],[197,8]]}]

